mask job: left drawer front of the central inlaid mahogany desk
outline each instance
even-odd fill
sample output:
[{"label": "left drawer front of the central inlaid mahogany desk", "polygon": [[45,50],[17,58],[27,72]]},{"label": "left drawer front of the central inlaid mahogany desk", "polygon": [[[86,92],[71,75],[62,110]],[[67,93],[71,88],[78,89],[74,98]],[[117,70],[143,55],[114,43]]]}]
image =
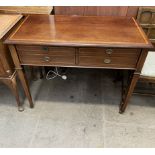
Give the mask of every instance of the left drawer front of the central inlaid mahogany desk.
[{"label": "left drawer front of the central inlaid mahogany desk", "polygon": [[16,46],[22,64],[75,65],[75,49],[69,47]]}]

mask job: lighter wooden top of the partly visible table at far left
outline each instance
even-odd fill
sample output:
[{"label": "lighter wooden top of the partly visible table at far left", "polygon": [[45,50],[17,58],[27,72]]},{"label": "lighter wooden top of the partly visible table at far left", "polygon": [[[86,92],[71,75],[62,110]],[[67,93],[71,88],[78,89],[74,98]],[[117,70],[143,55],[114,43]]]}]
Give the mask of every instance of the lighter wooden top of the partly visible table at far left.
[{"label": "lighter wooden top of the partly visible table at far left", "polygon": [[0,14],[0,39],[22,18],[22,15]]}]

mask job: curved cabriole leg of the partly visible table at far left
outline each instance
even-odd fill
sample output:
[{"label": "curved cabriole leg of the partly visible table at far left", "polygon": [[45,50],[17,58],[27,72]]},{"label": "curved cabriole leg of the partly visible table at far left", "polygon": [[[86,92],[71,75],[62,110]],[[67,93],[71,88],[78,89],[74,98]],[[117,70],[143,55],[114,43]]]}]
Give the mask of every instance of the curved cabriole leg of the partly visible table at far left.
[{"label": "curved cabriole leg of the partly visible table at far left", "polygon": [[1,81],[11,89],[12,93],[16,97],[18,111],[20,111],[20,112],[24,111],[24,108],[22,107],[22,105],[20,103],[20,99],[19,99],[16,74],[14,73],[14,75],[11,78],[1,79]]}]

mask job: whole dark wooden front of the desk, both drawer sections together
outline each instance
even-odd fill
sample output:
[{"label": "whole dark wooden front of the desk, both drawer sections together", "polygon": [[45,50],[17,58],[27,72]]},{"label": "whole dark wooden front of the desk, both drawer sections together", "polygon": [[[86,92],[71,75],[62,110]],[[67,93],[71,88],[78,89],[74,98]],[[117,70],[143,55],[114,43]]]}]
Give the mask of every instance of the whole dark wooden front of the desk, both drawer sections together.
[{"label": "whole dark wooden front of the desk, both drawer sections together", "polygon": [[[16,49],[22,65],[35,66],[60,65],[135,69],[140,55],[140,50],[138,49],[123,48],[74,49],[67,47],[17,45]],[[77,51],[76,53],[75,50]],[[108,54],[108,50],[111,50],[112,53]],[[77,56],[75,56],[75,54]],[[46,60],[46,58],[48,58],[48,60]],[[105,59],[110,59],[111,62],[106,64],[104,63]]]}]

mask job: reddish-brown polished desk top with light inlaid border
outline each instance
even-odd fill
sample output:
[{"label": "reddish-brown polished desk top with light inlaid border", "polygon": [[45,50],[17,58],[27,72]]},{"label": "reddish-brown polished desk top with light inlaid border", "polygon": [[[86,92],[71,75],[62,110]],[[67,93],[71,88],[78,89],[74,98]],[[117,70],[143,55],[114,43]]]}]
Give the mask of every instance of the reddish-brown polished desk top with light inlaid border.
[{"label": "reddish-brown polished desk top with light inlaid border", "polygon": [[29,15],[8,44],[151,48],[131,17]]}]

